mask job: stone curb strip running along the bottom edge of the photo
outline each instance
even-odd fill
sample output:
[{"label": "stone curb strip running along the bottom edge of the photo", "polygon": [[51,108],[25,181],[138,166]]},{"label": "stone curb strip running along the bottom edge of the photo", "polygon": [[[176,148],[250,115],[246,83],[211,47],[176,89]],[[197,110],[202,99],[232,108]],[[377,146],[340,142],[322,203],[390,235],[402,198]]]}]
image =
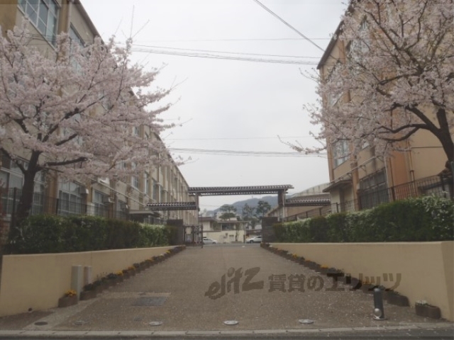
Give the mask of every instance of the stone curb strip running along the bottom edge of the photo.
[{"label": "stone curb strip running along the bottom edge of the photo", "polygon": [[[258,330],[231,330],[231,331],[51,331],[51,330],[0,330],[0,339],[15,339],[15,338],[72,338],[78,339],[125,339],[128,337],[134,339],[150,338],[150,337],[188,337],[194,336],[298,336],[311,333],[327,333],[327,332],[345,332],[345,331],[398,331],[402,329],[450,329],[453,324],[411,324],[406,326],[390,326],[390,327],[349,327],[349,328],[313,328],[313,329],[258,329]],[[454,330],[454,328],[453,328]]]}]

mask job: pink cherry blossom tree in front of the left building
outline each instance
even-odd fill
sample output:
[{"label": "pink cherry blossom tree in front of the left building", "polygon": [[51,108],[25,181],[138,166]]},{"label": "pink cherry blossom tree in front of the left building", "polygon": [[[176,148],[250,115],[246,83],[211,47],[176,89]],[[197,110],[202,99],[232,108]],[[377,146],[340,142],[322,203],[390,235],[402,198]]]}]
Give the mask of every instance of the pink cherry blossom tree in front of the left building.
[{"label": "pink cherry blossom tree in front of the left building", "polygon": [[[18,217],[29,214],[40,171],[124,180],[162,162],[152,135],[171,127],[158,118],[170,90],[150,90],[160,70],[131,62],[131,40],[83,47],[61,34],[47,52],[32,42],[26,26],[0,36],[0,153],[23,173]],[[141,126],[148,136],[133,133]]]}]

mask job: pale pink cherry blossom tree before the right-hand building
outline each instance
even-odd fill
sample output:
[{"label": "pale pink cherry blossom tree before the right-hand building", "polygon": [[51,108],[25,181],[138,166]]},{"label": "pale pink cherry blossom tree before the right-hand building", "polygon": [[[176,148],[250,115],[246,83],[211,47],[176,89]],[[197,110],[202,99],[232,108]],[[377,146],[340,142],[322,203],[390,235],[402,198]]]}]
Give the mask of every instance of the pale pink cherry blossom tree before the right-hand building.
[{"label": "pale pink cherry blossom tree before the right-hand building", "polygon": [[453,15],[453,0],[350,1],[335,37],[345,58],[328,57],[328,77],[313,77],[321,99],[305,106],[321,125],[319,141],[348,140],[354,154],[367,142],[376,154],[389,155],[425,130],[453,162]]}]

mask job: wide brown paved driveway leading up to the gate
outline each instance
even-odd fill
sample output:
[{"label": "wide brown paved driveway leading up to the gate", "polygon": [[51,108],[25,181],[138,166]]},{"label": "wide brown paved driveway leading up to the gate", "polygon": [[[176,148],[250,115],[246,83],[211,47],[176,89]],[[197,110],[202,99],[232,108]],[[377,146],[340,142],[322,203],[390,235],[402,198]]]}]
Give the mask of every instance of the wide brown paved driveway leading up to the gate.
[{"label": "wide brown paved driveway leading up to the gate", "polygon": [[[294,283],[289,287],[289,276],[299,274],[306,278],[304,291]],[[453,327],[386,302],[387,319],[375,321],[372,295],[348,288],[326,291],[331,279],[323,276],[321,288],[316,276],[256,244],[188,248],[96,299],[0,318],[0,336],[252,336]],[[314,323],[302,324],[303,319]],[[223,323],[228,320],[238,324]]]}]

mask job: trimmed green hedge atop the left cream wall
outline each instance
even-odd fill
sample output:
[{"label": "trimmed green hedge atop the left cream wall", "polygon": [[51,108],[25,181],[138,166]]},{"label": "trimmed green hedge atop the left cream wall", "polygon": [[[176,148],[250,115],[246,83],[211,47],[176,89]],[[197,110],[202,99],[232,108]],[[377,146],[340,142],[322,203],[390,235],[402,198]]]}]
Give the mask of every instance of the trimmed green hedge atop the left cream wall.
[{"label": "trimmed green hedge atop the left cream wall", "polygon": [[9,248],[13,254],[145,248],[168,245],[169,234],[167,227],[104,217],[35,215],[21,222]]}]

